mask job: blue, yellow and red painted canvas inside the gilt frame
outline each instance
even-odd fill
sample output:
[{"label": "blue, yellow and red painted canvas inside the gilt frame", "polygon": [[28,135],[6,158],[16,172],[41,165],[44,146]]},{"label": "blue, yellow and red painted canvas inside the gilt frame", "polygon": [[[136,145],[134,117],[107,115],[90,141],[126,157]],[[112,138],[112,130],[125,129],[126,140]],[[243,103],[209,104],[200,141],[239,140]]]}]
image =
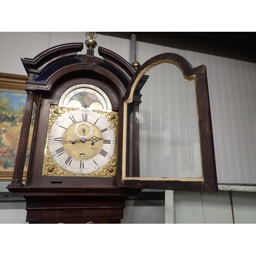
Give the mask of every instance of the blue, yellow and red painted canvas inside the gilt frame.
[{"label": "blue, yellow and red painted canvas inside the gilt frame", "polygon": [[[0,180],[12,179],[27,94],[0,90]],[[25,169],[28,166],[34,117],[32,116]]]}]

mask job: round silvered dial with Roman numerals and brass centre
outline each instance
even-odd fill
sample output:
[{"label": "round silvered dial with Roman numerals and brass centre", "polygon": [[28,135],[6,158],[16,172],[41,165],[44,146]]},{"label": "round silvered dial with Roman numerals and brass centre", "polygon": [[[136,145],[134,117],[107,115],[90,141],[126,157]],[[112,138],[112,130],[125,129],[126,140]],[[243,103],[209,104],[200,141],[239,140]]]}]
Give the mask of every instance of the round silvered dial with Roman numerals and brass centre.
[{"label": "round silvered dial with Roman numerals and brass centre", "polygon": [[111,123],[87,109],[62,114],[48,136],[53,161],[73,174],[89,174],[104,167],[114,154],[115,144]]}]

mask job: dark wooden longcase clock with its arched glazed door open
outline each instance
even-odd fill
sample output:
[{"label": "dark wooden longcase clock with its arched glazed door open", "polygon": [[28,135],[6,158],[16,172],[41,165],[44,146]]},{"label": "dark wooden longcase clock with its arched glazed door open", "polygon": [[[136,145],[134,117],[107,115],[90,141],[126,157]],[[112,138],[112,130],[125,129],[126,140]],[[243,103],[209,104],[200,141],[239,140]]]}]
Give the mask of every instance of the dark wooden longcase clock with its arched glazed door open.
[{"label": "dark wooden longcase clock with its arched glazed door open", "polygon": [[[217,191],[206,69],[176,54],[158,55],[136,72],[114,52],[82,43],[50,48],[22,59],[29,75],[24,121],[8,189],[26,199],[30,223],[119,223],[125,199],[142,188]],[[195,79],[202,177],[141,178],[139,105],[145,72],[169,62]],[[157,63],[157,64],[156,64]],[[200,100],[199,100],[200,99]],[[33,104],[36,118],[23,183]],[[206,113],[206,114],[205,114]]]}]

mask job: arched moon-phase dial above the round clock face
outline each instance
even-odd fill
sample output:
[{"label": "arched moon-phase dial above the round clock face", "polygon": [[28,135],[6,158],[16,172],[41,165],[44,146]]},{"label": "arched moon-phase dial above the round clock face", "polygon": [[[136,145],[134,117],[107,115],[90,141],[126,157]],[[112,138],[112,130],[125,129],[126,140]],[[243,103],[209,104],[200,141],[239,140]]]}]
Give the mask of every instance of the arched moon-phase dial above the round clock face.
[{"label": "arched moon-phase dial above the round clock face", "polygon": [[59,105],[74,108],[112,110],[108,95],[90,83],[79,83],[67,89],[60,97]]}]

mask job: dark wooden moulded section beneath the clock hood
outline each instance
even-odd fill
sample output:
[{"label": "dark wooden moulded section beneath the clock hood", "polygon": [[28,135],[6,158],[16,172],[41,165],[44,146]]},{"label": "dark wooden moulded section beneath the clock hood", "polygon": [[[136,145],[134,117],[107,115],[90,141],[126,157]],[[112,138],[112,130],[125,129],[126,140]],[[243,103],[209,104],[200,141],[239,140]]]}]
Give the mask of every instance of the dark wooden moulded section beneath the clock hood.
[{"label": "dark wooden moulded section beneath the clock hood", "polygon": [[121,188],[13,188],[26,199],[29,223],[114,224],[123,219],[125,200],[140,189]]}]

